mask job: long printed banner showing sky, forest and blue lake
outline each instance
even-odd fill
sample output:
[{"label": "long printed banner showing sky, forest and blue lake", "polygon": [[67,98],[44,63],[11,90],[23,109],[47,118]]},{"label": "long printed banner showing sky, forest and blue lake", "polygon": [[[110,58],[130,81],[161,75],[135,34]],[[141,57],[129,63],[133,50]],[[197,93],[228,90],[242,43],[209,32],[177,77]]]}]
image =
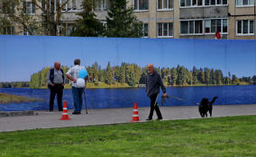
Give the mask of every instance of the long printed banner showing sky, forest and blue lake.
[{"label": "long printed banner showing sky, forest and blue lake", "polygon": [[[67,72],[76,58],[89,74],[90,109],[149,106],[148,64],[173,96],[166,106],[214,96],[218,105],[256,103],[256,40],[0,36],[0,110],[49,109],[49,69],[59,61]],[[72,109],[65,83],[63,100]]]}]

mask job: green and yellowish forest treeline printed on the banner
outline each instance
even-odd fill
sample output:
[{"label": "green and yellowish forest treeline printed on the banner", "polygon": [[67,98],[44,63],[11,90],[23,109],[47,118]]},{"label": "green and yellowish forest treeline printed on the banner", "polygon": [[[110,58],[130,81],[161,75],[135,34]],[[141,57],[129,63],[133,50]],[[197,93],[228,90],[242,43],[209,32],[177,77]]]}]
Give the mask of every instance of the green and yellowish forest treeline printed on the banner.
[{"label": "green and yellowish forest treeline printed on the banner", "polygon": [[[68,72],[68,66],[62,66],[64,73]],[[32,74],[30,88],[46,86],[47,74],[50,67],[43,68],[40,72]],[[256,75],[252,77],[238,78],[235,74],[228,73],[224,76],[222,70],[213,68],[196,68],[188,70],[183,65],[177,67],[158,67],[156,70],[161,75],[164,83],[171,86],[187,85],[229,85],[229,84],[255,84]],[[108,65],[102,68],[97,63],[87,66],[89,83],[128,83],[130,86],[144,84],[146,82],[147,68],[136,64],[122,63],[121,65]],[[68,83],[66,81],[66,83]]]}]

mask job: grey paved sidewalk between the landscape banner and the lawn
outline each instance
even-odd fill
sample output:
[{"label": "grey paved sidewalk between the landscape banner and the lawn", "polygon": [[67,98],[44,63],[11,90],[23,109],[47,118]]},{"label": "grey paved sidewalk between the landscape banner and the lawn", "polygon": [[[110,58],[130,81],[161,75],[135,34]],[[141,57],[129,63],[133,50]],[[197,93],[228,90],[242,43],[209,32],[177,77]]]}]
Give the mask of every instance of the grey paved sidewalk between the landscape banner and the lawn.
[{"label": "grey paved sidewalk between the landscape banner and the lawn", "polygon": [[[139,116],[142,121],[147,118],[150,108],[139,108]],[[164,120],[200,118],[197,106],[160,107]],[[88,114],[83,110],[81,115],[72,115],[71,120],[59,120],[61,112],[35,111],[37,115],[0,117],[0,132],[26,130],[35,128],[54,128],[65,126],[91,126],[116,123],[130,123],[133,116],[132,108],[122,109],[88,109]],[[213,117],[256,115],[255,105],[215,105]],[[154,117],[156,113],[154,112]]]}]

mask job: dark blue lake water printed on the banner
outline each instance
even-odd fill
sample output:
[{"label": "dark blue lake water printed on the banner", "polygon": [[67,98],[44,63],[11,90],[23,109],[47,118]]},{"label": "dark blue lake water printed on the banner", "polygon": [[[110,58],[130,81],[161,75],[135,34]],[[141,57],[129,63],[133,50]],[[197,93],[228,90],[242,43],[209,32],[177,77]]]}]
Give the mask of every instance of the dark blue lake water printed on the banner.
[{"label": "dark blue lake water printed on the banner", "polygon": [[[26,103],[0,104],[2,111],[18,110],[45,110],[49,109],[49,90],[34,90],[27,88],[2,88],[0,92],[39,98],[42,101]],[[203,87],[168,87],[169,95],[183,100],[170,97],[164,106],[193,106],[200,102],[202,98],[211,100],[217,96],[217,105],[233,104],[256,104],[256,85],[236,85],[236,86],[203,86]],[[138,107],[149,107],[150,99],[145,94],[144,88],[125,89],[87,89],[87,109],[110,109],[110,108],[132,108],[134,102]],[[72,91],[64,90],[63,100],[67,100],[68,109],[73,109]],[[161,98],[158,99],[159,103]],[[54,108],[57,109],[57,100]],[[83,103],[85,108],[85,103]]]}]

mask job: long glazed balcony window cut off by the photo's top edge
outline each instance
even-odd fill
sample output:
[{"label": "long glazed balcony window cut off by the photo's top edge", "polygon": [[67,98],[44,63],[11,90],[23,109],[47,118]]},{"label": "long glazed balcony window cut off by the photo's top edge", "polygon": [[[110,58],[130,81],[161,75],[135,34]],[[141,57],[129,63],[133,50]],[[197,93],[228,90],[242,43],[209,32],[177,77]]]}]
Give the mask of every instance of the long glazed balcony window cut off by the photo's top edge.
[{"label": "long glazed balcony window cut off by the photo's top edge", "polygon": [[180,0],[181,7],[209,6],[209,5],[226,5],[228,0]]}]

